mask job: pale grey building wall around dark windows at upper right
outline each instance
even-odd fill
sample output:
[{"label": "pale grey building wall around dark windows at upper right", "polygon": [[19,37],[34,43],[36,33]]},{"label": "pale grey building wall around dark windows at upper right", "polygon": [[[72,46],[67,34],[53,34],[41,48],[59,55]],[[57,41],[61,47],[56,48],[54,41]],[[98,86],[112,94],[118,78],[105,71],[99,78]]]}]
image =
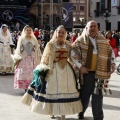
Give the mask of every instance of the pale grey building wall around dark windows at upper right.
[{"label": "pale grey building wall around dark windows at upper right", "polygon": [[[97,23],[100,24],[100,30],[103,31],[106,29],[106,17],[103,16],[103,14],[100,14],[100,16],[95,17],[95,11],[96,8],[96,2],[101,2],[101,0],[90,0],[90,15],[93,20],[95,20]],[[117,6],[119,6],[119,1],[117,1]],[[118,14],[118,8],[117,6],[111,7],[111,15],[108,17],[109,22],[111,23],[111,31],[112,30],[120,30],[118,29],[118,22],[120,21],[120,13]],[[107,8],[107,3],[105,2],[105,8]]]}]

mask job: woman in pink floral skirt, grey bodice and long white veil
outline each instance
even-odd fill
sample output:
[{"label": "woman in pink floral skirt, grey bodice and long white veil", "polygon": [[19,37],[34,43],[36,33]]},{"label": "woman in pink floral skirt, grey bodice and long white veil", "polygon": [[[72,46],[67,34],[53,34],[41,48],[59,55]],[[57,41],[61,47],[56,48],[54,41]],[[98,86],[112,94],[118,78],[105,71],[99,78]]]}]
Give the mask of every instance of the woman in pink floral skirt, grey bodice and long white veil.
[{"label": "woman in pink floral skirt, grey bodice and long white veil", "polygon": [[25,89],[26,91],[33,79],[33,70],[41,58],[38,42],[30,26],[24,27],[12,57],[16,64],[14,89]]}]

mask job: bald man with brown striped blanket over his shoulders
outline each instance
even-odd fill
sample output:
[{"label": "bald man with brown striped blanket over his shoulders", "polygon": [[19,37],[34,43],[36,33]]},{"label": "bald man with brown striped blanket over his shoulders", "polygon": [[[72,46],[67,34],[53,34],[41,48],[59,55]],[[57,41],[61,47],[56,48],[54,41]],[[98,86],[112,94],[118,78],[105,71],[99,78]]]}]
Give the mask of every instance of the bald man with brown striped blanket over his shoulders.
[{"label": "bald man with brown striped blanket over his shoulders", "polygon": [[115,70],[114,53],[109,41],[98,32],[95,21],[89,21],[81,34],[73,43],[71,56],[79,68],[81,80],[81,102],[83,112],[78,114],[79,119],[84,119],[92,95],[92,113],[94,120],[103,120],[103,95],[110,94],[108,82]]}]

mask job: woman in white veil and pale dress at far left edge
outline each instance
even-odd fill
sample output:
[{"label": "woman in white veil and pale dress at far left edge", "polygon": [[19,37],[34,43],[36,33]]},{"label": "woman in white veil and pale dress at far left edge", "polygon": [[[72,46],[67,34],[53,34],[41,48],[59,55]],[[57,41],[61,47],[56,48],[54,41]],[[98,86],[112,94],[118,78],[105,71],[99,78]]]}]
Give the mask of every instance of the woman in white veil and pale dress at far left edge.
[{"label": "woman in white veil and pale dress at far left edge", "polygon": [[0,72],[12,72],[13,60],[11,58],[11,48],[13,45],[12,36],[8,26],[3,24],[0,29]]}]

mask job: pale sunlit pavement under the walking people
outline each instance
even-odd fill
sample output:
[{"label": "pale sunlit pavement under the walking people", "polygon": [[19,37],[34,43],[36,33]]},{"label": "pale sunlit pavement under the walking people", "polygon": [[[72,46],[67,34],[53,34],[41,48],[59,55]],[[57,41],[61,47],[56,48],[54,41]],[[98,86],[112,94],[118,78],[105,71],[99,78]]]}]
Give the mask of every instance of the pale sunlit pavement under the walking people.
[{"label": "pale sunlit pavement under the walking people", "polygon": [[[110,79],[111,96],[104,97],[104,120],[120,120],[120,75],[112,74]],[[47,115],[40,115],[29,110],[20,100],[24,90],[13,89],[13,75],[0,75],[0,120],[51,120]],[[86,113],[86,120],[93,120],[91,106]],[[55,120],[60,117],[56,116]],[[66,120],[78,120],[76,115],[67,115]]]}]

